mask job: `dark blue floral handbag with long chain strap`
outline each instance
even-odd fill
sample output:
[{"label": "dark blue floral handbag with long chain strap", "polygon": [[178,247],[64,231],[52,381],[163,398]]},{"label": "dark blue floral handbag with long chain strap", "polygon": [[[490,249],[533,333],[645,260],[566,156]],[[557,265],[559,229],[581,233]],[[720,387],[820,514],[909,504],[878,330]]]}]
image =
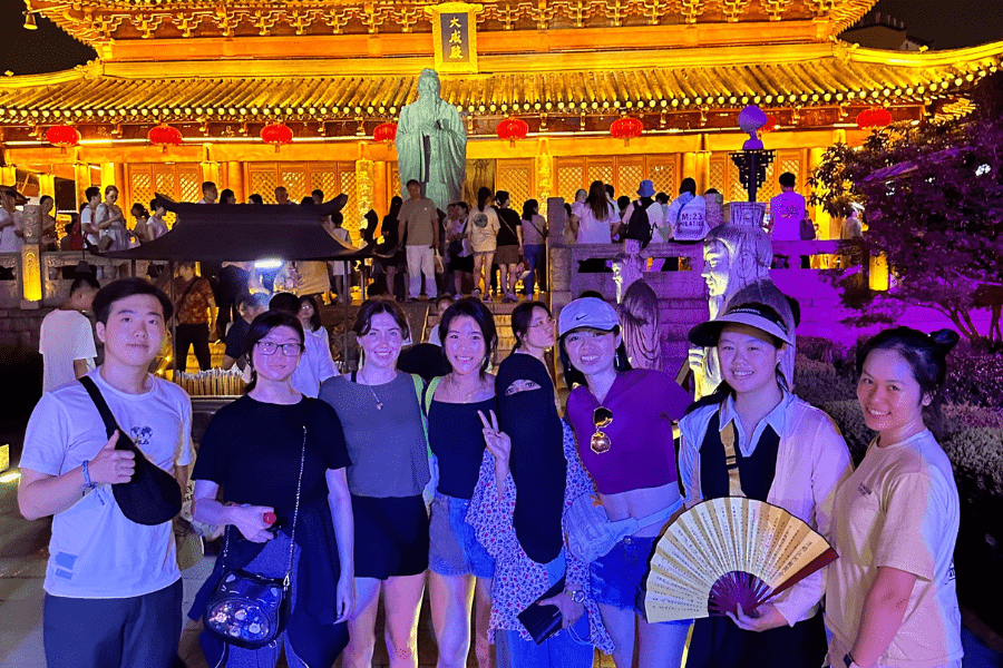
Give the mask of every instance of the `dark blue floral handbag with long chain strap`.
[{"label": "dark blue floral handbag with long chain strap", "polygon": [[303,426],[303,450],[300,454],[300,478],[296,482],[296,503],[289,537],[289,566],[284,578],[269,578],[243,569],[226,569],[230,531],[223,543],[223,577],[205,606],[205,628],[223,642],[245,649],[260,649],[274,642],[285,630],[291,612],[290,577],[295,550],[296,520],[300,514],[300,492],[303,485],[303,464],[306,460],[306,428]]}]

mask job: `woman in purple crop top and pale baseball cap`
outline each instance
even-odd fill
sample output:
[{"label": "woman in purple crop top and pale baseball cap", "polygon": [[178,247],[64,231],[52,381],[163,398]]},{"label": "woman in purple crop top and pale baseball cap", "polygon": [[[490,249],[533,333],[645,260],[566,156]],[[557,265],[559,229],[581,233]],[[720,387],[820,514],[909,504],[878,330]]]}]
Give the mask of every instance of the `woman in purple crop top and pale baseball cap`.
[{"label": "woman in purple crop top and pale baseball cap", "polygon": [[[565,418],[606,514],[611,520],[671,514],[681,505],[672,423],[690,397],[659,371],[631,370],[616,312],[602,299],[584,297],[565,306],[558,333],[565,377],[577,372],[585,379],[567,397]],[[635,646],[641,666],[682,660],[690,622],[647,623],[636,605],[665,523],[642,527],[590,566],[616,668],[630,668]]]}]

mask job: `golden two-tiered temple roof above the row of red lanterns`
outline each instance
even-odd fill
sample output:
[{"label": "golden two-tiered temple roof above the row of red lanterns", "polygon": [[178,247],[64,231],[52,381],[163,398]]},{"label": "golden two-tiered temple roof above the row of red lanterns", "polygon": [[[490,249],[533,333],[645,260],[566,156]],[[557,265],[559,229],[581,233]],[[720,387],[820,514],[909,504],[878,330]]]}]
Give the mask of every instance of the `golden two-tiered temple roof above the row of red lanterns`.
[{"label": "golden two-tiered temple roof above the row of red lanterns", "polygon": [[[874,2],[484,2],[479,73],[444,75],[442,97],[474,136],[494,135],[505,116],[530,131],[605,130],[621,114],[646,130],[733,128],[748,104],[812,128],[875,105],[915,119],[1000,67],[1003,42],[916,53],[838,41]],[[56,3],[31,0],[103,56],[0,79],[3,139],[38,139],[61,122],[85,138],[145,137],[159,122],[186,137],[253,136],[277,120],[300,124],[299,137],[364,137],[417,97],[417,75],[431,66],[432,4],[74,0],[46,10]]]}]

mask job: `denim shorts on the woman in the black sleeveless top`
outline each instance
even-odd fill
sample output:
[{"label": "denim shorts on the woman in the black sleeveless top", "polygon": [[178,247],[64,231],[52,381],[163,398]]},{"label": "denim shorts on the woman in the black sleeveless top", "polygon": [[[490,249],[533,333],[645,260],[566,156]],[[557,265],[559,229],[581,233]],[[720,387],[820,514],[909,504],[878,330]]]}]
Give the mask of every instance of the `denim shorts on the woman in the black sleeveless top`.
[{"label": "denim shorts on the woman in the black sleeveless top", "polygon": [[440,576],[495,574],[495,560],[477,542],[467,523],[470,501],[436,492],[429,528],[428,568]]}]

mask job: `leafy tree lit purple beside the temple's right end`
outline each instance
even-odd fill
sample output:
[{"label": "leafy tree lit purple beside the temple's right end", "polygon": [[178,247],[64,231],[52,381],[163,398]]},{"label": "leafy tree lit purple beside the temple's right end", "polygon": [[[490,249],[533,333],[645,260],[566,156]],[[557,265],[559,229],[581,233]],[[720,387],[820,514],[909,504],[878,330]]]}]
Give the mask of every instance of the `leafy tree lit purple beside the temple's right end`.
[{"label": "leafy tree lit purple beside the temple's right end", "polygon": [[[914,304],[941,311],[971,340],[984,336],[971,312],[1003,292],[1003,76],[986,77],[974,100],[962,119],[895,124],[859,148],[836,145],[809,178],[811,204],[831,216],[864,205],[866,244],[892,267],[880,293],[849,287],[851,269],[830,273],[856,322],[894,320]],[[993,316],[999,338],[999,306]]]}]

